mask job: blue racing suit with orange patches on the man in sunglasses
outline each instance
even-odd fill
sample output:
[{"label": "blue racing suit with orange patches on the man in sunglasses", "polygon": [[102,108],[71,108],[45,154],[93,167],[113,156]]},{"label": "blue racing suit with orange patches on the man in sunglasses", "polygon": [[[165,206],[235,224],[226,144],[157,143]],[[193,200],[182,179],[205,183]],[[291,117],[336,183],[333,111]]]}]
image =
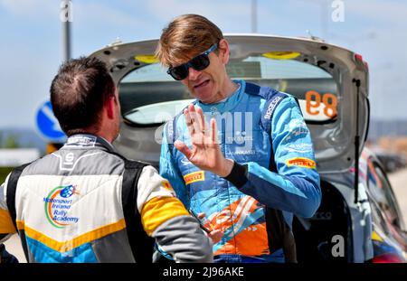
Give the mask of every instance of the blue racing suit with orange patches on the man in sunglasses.
[{"label": "blue racing suit with orange patches on the man in sunglasses", "polygon": [[203,108],[216,119],[226,158],[235,164],[222,178],[191,164],[175,146],[191,146],[185,117],[166,124],[160,174],[187,209],[204,212],[208,229],[221,229],[213,245],[219,262],[296,261],[293,214],[312,217],[321,201],[319,175],[308,127],[296,98],[244,80],[232,96]]}]

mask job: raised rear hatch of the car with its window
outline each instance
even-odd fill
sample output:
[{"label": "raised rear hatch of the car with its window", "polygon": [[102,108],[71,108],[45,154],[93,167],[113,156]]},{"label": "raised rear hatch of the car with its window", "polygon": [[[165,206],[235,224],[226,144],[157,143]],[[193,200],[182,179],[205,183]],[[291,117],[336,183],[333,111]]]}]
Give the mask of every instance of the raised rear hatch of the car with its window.
[{"label": "raised rear hatch of the car with its window", "polygon": [[[307,38],[228,34],[225,39],[230,42],[227,70],[233,80],[270,86],[298,98],[311,131],[318,172],[348,170],[355,163],[355,144],[362,151],[369,123],[368,70],[362,57]],[[156,43],[116,44],[91,55],[108,63],[118,84],[123,136],[127,129],[156,134],[153,127],[174,117],[191,101],[185,87],[156,61]],[[358,137],[359,143],[355,142]],[[128,154],[140,147],[120,139],[116,145]],[[151,147],[157,161],[159,144]],[[132,156],[140,159],[140,154]]]}]

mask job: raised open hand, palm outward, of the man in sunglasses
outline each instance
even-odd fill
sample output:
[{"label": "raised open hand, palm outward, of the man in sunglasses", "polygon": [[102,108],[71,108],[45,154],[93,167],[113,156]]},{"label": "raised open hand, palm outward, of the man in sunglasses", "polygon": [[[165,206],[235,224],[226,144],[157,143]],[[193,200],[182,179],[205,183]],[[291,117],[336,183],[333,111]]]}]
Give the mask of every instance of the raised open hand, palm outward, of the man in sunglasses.
[{"label": "raised open hand, palm outward, of the man in sunglasses", "polygon": [[222,177],[232,171],[233,161],[222,155],[221,147],[217,139],[216,121],[211,118],[210,130],[204,119],[202,108],[195,110],[190,104],[184,109],[184,117],[189,135],[191,136],[192,148],[182,141],[176,140],[176,149],[182,152],[186,158],[202,170],[216,173]]}]

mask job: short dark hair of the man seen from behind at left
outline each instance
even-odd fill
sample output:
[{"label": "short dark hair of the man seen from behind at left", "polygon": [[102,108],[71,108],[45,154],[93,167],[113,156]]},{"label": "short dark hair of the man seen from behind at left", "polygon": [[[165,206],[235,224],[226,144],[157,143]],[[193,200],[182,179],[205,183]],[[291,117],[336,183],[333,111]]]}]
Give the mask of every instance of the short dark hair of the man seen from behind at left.
[{"label": "short dark hair of the man seen from behind at left", "polygon": [[51,84],[52,110],[67,136],[99,129],[101,109],[111,96],[115,84],[106,64],[96,58],[62,63]]}]

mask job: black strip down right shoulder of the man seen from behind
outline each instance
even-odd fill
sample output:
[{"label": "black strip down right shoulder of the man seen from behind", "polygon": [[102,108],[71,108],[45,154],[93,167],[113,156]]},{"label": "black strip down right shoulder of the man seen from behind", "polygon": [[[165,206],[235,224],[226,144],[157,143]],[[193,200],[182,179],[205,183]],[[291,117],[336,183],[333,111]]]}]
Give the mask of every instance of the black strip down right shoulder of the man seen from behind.
[{"label": "black strip down right shoulder of the man seen from behind", "polygon": [[137,263],[151,263],[154,250],[154,239],[147,236],[137,211],[137,182],[147,164],[137,161],[125,161],[125,171],[122,183],[122,205],[133,257]]}]

